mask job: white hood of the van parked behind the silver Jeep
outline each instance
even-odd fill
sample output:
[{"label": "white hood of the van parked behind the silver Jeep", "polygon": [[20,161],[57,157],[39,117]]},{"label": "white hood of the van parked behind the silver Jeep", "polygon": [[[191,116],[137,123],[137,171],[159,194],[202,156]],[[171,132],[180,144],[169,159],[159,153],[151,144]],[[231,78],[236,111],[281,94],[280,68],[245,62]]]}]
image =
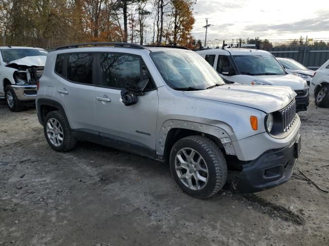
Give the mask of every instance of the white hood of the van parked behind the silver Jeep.
[{"label": "white hood of the van parked behind the silver Jeep", "polygon": [[285,75],[258,75],[252,76],[254,80],[270,82],[273,86],[289,86],[293,90],[304,89],[304,79],[293,74]]}]

